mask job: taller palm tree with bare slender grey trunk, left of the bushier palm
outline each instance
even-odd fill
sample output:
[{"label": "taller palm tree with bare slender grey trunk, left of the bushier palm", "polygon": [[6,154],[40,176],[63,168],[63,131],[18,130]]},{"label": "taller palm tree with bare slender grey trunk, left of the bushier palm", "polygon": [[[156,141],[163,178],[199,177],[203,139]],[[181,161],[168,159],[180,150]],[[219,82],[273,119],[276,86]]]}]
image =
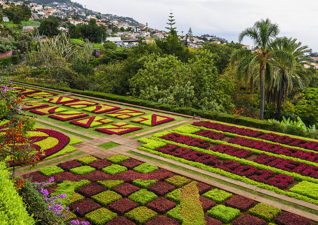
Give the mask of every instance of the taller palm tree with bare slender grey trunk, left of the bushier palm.
[{"label": "taller palm tree with bare slender grey trunk, left of the bushier palm", "polygon": [[[273,24],[270,19],[261,19],[256,21],[252,27],[246,28],[239,34],[239,42],[241,43],[244,37],[252,39],[254,46],[259,48],[253,52],[246,48],[239,49],[232,53],[231,63],[235,64],[240,60],[236,73],[238,78],[245,78],[250,81],[251,93],[253,91],[254,71],[259,70],[259,89],[260,89],[260,115],[259,119],[264,118],[264,87],[265,74],[270,74],[269,60],[272,58],[283,58],[288,63],[293,63],[293,57],[283,50],[271,51],[269,49],[270,42],[279,34],[280,29],[278,24]],[[268,77],[268,76],[266,76]]]}]

